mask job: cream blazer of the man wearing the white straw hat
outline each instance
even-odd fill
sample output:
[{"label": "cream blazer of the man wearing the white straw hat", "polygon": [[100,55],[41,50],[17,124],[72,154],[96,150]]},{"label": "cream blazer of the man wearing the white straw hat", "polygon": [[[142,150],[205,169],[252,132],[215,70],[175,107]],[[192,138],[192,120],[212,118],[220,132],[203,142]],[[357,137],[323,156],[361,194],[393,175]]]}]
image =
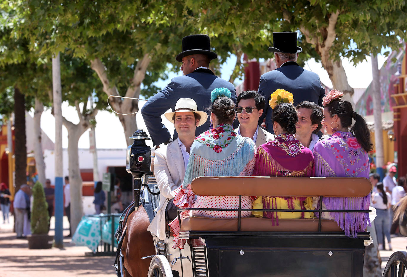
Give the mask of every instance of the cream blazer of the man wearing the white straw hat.
[{"label": "cream blazer of the man wearing the white straw hat", "polygon": [[165,239],[165,208],[169,199],[173,199],[170,193],[181,186],[185,177],[184,158],[178,140],[177,138],[155,151],[154,176],[160,189],[160,206],[156,209],[157,214],[147,230],[160,240]]}]

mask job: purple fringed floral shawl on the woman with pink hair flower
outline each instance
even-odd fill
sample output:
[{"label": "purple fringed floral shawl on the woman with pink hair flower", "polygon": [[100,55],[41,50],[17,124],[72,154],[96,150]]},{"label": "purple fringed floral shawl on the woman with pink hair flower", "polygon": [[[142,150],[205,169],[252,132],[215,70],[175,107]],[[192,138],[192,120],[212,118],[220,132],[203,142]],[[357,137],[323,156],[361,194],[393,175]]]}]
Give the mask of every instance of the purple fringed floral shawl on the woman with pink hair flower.
[{"label": "purple fringed floral shawl on the woman with pink hair flower", "polygon": [[[350,132],[336,132],[314,147],[315,176],[369,177],[368,153]],[[328,210],[369,210],[370,195],[365,197],[324,197]],[[370,226],[368,213],[331,212],[346,236],[356,237]]]}]

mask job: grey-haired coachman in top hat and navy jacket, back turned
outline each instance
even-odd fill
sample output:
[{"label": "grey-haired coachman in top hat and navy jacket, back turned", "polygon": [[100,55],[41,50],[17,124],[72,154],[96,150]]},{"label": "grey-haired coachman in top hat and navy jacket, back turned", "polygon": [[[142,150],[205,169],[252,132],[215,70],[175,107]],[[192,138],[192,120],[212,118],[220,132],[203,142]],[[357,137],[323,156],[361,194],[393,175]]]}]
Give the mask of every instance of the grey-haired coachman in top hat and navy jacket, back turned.
[{"label": "grey-haired coachman in top hat and navy jacket, back turned", "polygon": [[271,93],[277,89],[285,89],[293,94],[294,106],[302,101],[322,106],[325,90],[317,74],[297,64],[298,53],[302,52],[302,48],[297,46],[297,32],[273,32],[273,47],[268,50],[274,52],[278,68],[260,76],[258,91],[266,98],[266,105],[259,124],[266,119],[266,130],[274,134],[271,122],[273,109],[269,106]]}]

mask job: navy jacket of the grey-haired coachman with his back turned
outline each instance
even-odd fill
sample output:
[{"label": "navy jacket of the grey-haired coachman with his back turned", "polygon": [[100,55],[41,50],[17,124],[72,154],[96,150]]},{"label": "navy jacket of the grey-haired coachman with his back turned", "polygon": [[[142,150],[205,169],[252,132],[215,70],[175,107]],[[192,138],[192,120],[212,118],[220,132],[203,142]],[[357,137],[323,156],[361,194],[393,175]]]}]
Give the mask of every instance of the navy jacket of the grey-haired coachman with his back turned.
[{"label": "navy jacket of the grey-haired coachman with his back turned", "polygon": [[294,106],[302,101],[311,101],[322,106],[325,89],[321,85],[318,74],[305,70],[294,61],[284,63],[280,68],[260,76],[258,92],[266,98],[266,105],[259,124],[266,119],[266,130],[274,134],[271,117],[273,109],[269,105],[271,93],[277,89],[285,89],[293,94]]}]

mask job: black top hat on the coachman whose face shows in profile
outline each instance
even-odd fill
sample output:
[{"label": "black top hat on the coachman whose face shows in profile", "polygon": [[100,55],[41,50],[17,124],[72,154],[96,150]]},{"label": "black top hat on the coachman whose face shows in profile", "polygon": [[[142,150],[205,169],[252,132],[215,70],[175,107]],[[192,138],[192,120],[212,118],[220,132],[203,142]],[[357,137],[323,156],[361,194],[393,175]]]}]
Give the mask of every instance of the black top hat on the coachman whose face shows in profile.
[{"label": "black top hat on the coachman whose face shows in profile", "polygon": [[217,58],[215,52],[210,51],[210,39],[207,35],[190,35],[182,39],[182,52],[175,59],[182,62],[182,58],[192,54],[204,54],[211,60]]}]

